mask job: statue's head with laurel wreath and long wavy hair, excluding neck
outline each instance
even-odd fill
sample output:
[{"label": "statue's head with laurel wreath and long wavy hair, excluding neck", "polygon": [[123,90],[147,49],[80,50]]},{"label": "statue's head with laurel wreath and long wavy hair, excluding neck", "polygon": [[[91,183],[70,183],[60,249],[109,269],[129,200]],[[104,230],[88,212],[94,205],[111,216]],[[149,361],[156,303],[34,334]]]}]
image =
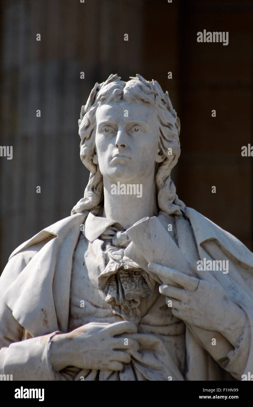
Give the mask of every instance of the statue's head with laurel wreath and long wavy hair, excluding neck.
[{"label": "statue's head with laurel wreath and long wavy hair, excluding neck", "polygon": [[123,82],[117,75],[96,83],[78,120],[80,157],[90,171],[84,198],[71,214],[99,210],[103,176],[134,183],[155,175],[158,207],[181,215],[185,206],[175,193],[171,170],[180,155],[180,122],[168,92],[140,75]]}]

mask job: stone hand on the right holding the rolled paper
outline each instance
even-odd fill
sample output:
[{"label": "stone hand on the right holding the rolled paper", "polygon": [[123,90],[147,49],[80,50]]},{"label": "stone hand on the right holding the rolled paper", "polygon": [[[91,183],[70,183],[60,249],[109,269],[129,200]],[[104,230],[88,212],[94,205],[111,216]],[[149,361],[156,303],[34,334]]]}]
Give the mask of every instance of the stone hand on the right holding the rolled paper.
[{"label": "stone hand on the right holding the rolled paper", "polygon": [[157,263],[150,263],[148,269],[166,283],[160,286],[159,291],[166,295],[167,304],[171,300],[168,306],[171,304],[175,317],[199,328],[223,332],[237,315],[235,307],[239,309],[238,306],[218,282],[199,280]]}]

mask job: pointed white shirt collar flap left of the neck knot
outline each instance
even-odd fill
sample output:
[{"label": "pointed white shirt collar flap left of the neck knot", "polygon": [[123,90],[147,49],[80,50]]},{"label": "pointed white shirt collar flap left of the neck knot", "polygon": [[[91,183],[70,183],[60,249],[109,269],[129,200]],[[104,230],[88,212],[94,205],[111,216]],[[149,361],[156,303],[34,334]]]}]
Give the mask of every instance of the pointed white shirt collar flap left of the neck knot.
[{"label": "pointed white shirt collar flap left of the neck knot", "polygon": [[[92,212],[86,218],[84,231],[82,232],[86,239],[93,242],[111,225],[117,222],[112,219],[95,216]],[[118,224],[118,223],[117,223]]]}]

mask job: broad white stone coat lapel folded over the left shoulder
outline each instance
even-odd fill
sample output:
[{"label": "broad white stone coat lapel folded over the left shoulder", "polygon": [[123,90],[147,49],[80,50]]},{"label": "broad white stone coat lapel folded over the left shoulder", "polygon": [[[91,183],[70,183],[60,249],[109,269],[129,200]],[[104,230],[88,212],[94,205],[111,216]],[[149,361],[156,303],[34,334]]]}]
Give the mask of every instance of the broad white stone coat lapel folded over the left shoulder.
[{"label": "broad white stone coat lapel folded over the left shoulder", "polygon": [[86,214],[65,218],[39,232],[14,253],[55,237],[35,254],[4,295],[15,319],[33,337],[55,330],[67,332],[72,258],[85,218]]}]

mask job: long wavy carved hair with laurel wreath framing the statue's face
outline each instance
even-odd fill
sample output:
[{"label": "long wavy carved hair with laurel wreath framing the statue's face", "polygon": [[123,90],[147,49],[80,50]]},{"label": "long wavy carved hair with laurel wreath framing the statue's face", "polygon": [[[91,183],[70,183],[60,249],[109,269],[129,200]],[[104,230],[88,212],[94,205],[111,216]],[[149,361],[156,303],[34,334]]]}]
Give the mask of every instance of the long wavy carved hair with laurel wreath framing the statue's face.
[{"label": "long wavy carved hair with laurel wreath framing the statue's face", "polygon": [[[171,170],[180,155],[180,122],[172,107],[168,92],[162,92],[157,81],[146,81],[141,75],[130,77],[123,82],[117,74],[111,74],[105,82],[96,83],[85,106],[82,106],[79,125],[80,158],[90,171],[89,182],[84,197],[78,201],[71,215],[94,210],[99,213],[103,205],[103,177],[98,164],[93,162],[96,154],[95,133],[97,107],[102,103],[112,103],[124,99],[130,102],[148,103],[157,111],[159,132],[159,155],[164,160],[156,165],[156,190],[160,213],[182,216],[185,205],[176,195],[171,180]],[[96,161],[95,161],[96,162]]]}]

